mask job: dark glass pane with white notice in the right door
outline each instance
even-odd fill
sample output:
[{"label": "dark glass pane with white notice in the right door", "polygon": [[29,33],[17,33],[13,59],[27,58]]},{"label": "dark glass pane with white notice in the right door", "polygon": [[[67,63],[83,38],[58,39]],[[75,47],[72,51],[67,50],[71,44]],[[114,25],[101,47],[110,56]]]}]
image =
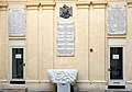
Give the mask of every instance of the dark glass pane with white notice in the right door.
[{"label": "dark glass pane with white notice in the right door", "polygon": [[110,79],[123,79],[123,47],[110,47]]}]

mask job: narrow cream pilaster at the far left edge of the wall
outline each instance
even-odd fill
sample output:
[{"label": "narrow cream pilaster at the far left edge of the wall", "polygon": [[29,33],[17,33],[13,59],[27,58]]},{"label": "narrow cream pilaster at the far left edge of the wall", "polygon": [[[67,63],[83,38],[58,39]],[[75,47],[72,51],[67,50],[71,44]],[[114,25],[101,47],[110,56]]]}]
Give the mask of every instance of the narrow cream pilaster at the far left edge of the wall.
[{"label": "narrow cream pilaster at the far left edge of the wall", "polygon": [[8,81],[9,57],[8,57],[8,27],[7,4],[0,4],[0,79]]}]

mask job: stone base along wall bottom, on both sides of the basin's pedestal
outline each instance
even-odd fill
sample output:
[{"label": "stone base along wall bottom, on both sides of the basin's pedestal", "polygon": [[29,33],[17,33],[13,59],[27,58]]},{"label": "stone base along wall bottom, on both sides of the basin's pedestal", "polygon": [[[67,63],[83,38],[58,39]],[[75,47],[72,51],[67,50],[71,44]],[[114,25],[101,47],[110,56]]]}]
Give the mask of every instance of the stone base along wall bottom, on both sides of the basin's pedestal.
[{"label": "stone base along wall bottom, on both sides of the basin's pedestal", "polygon": [[[76,83],[72,88],[72,92],[132,92],[132,84],[128,84],[125,89],[108,89],[106,83]],[[2,83],[0,92],[56,92],[56,84],[51,82],[26,82],[25,84]]]}]

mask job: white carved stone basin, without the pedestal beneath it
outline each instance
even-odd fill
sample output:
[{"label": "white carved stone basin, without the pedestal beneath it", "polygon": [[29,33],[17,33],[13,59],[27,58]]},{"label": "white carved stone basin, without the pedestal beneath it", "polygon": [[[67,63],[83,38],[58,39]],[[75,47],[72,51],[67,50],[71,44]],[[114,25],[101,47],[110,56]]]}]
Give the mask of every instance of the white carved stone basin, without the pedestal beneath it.
[{"label": "white carved stone basin, without the pedestal beneath it", "polygon": [[77,80],[76,69],[48,69],[47,74],[53,83],[73,83]]}]

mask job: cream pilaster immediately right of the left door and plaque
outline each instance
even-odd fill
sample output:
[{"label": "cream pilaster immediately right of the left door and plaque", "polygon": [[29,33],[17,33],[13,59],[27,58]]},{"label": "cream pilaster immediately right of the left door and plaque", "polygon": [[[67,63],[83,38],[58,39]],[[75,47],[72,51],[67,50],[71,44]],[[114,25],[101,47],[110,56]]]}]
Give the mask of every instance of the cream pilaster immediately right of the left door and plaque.
[{"label": "cream pilaster immediately right of the left door and plaque", "polygon": [[26,78],[38,80],[38,8],[28,9]]}]

